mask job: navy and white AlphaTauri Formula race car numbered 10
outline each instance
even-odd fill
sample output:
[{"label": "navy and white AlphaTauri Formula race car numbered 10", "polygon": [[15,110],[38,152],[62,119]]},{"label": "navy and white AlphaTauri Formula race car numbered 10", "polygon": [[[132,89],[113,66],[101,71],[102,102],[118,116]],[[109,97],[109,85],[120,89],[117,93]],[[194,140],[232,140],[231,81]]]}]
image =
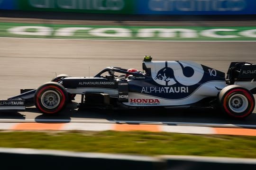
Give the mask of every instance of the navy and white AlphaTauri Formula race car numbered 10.
[{"label": "navy and white AlphaTauri Formula race car numbered 10", "polygon": [[23,89],[0,101],[0,110],[35,105],[42,113],[55,114],[78,94],[79,107],[221,108],[233,118],[245,118],[254,110],[255,64],[231,62],[225,76],[193,61],[152,61],[145,56],[142,68],[141,72],[107,67],[94,77],[59,75],[37,89]]}]

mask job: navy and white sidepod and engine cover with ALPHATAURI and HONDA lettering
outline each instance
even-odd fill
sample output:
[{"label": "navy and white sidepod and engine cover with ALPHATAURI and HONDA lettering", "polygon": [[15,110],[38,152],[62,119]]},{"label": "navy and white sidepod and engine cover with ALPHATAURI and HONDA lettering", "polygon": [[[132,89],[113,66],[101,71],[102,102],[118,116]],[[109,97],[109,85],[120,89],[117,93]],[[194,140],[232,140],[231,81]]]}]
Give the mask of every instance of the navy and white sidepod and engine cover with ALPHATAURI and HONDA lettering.
[{"label": "navy and white sidepod and engine cover with ALPHATAURI and HONDA lettering", "polygon": [[144,79],[130,79],[128,106],[182,106],[217,97],[225,74],[192,61],[143,62]]}]

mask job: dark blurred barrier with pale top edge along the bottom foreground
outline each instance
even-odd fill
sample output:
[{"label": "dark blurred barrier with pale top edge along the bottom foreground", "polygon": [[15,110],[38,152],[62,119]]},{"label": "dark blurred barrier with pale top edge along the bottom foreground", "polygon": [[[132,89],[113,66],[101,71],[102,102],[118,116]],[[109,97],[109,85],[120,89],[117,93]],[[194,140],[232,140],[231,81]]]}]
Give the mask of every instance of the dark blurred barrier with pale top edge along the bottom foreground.
[{"label": "dark blurred barrier with pale top edge along the bottom foreground", "polygon": [[256,159],[202,156],[140,156],[0,148],[2,169],[216,170],[256,169]]}]

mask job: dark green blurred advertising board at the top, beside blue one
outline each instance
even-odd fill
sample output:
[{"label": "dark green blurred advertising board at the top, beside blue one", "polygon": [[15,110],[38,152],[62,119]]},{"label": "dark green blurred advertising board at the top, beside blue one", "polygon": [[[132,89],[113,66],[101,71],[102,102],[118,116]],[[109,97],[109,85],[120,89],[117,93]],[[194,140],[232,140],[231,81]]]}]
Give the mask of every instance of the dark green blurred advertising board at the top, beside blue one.
[{"label": "dark green blurred advertising board at the top, beside blue one", "polygon": [[133,14],[135,0],[18,0],[20,10]]}]

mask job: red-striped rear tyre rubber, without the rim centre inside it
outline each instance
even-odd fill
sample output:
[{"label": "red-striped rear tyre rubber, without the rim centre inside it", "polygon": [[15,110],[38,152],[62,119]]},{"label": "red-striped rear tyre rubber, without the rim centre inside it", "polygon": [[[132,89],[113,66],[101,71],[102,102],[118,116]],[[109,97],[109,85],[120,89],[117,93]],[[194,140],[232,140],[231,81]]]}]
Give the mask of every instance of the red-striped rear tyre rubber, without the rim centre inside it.
[{"label": "red-striped rear tyre rubber, without the rim centre inside it", "polygon": [[[250,93],[250,91],[248,91],[245,88],[239,87],[237,85],[236,86],[234,85],[233,88],[232,87],[227,88],[227,90],[224,88],[222,90],[223,92],[220,92],[219,99],[220,99],[220,105],[222,107],[222,110],[225,113],[227,113],[229,116],[233,118],[238,118],[238,119],[246,118],[252,113],[255,107],[255,100],[254,100],[254,96],[252,95],[252,93]],[[244,111],[235,112],[229,107],[229,102],[230,102],[229,100],[232,99],[232,96],[234,95],[241,95],[246,98],[247,106]]]}]

